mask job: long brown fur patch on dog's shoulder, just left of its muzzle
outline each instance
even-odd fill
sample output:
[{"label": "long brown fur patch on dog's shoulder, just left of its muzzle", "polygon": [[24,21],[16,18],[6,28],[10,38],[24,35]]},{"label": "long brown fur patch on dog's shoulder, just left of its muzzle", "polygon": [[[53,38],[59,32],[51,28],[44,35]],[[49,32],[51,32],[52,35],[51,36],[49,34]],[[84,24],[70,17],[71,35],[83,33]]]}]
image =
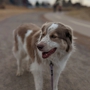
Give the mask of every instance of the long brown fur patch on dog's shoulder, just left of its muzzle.
[{"label": "long brown fur patch on dog's shoulder, just left of its muzzle", "polygon": [[[33,61],[35,60],[35,54],[38,57],[36,45],[37,45],[39,34],[40,34],[40,31],[37,31],[36,33],[33,32],[30,36],[27,37],[27,50]],[[37,59],[37,61],[38,63],[41,62],[40,59]]]}]

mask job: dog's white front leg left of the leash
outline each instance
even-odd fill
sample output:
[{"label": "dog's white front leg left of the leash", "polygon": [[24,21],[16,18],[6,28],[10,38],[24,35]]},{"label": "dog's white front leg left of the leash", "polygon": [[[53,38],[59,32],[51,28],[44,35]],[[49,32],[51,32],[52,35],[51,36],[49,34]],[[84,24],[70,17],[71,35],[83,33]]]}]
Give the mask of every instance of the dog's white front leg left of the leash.
[{"label": "dog's white front leg left of the leash", "polygon": [[36,90],[42,90],[42,88],[43,88],[42,66],[36,62],[33,63],[31,65],[31,72],[34,76]]}]

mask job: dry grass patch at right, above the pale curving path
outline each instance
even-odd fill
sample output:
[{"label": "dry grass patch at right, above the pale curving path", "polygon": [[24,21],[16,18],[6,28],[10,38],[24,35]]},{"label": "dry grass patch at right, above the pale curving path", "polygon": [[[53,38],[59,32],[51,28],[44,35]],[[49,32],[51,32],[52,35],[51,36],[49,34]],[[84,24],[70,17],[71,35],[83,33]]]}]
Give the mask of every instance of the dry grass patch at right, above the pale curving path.
[{"label": "dry grass patch at right, above the pale curving path", "polygon": [[69,11],[67,14],[73,16],[75,18],[80,18],[84,20],[90,21],[90,8],[82,8],[82,9],[73,9]]}]

